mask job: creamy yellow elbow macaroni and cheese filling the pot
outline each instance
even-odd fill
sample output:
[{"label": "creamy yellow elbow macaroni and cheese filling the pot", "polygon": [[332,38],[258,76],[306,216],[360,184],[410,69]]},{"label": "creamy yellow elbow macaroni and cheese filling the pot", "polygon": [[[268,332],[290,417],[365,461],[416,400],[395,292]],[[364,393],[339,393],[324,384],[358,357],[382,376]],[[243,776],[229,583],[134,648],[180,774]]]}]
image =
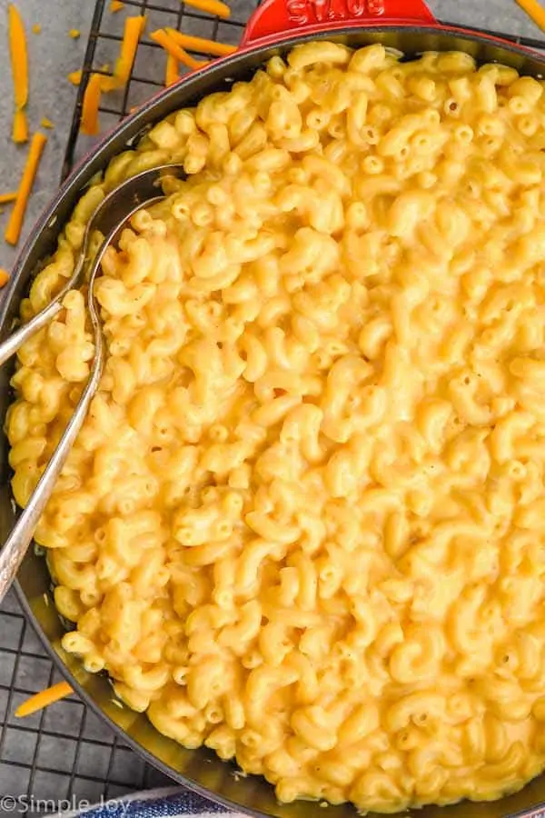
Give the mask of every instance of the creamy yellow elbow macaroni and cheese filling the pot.
[{"label": "creamy yellow elbow macaroni and cheese filling the pot", "polygon": [[[104,377],[35,539],[65,650],[281,801],[545,767],[543,87],[298,46],[116,157],[23,303],[109,190],[183,162],[104,257]],[[92,357],[74,291],[19,354],[20,505]]]}]

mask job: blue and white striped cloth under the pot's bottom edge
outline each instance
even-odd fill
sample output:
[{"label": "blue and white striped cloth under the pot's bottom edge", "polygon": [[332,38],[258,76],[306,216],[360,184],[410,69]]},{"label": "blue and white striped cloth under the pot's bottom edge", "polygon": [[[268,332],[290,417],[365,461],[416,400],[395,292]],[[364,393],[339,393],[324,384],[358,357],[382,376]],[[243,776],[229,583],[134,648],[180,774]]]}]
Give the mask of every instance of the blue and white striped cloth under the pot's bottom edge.
[{"label": "blue and white striped cloth under the pot's bottom edge", "polygon": [[229,812],[217,803],[206,801],[181,787],[135,793],[94,806],[82,803],[79,810],[56,813],[55,818],[178,818],[185,815],[193,815],[194,818],[244,818],[242,813]]}]

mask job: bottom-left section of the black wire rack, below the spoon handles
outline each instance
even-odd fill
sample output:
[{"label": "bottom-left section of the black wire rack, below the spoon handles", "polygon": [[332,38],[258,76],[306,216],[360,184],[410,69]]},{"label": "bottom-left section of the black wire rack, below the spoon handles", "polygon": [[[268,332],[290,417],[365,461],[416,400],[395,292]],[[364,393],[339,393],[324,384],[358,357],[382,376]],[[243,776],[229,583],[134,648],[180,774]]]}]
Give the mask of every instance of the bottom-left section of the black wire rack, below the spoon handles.
[{"label": "bottom-left section of the black wire rack, below the spoon handles", "polygon": [[10,592],[0,611],[0,815],[54,813],[169,783],[75,696],[15,719],[28,696],[59,681]]}]

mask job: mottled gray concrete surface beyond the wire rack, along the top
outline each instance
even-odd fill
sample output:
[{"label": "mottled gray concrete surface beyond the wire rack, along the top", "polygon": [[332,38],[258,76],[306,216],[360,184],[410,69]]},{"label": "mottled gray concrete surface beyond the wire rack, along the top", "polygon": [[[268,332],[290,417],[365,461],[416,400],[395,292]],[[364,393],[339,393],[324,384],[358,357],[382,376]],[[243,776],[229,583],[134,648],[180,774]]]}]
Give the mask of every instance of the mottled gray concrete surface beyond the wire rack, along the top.
[{"label": "mottled gray concrete surface beyond the wire rack, along the top", "polygon": [[[232,0],[233,12],[240,16],[248,0]],[[0,192],[14,189],[25,163],[25,146],[19,147],[9,138],[12,122],[12,83],[7,51],[7,5],[0,0]],[[49,132],[49,142],[35,184],[23,237],[32,228],[35,218],[54,193],[59,180],[64,146],[68,135],[75,89],[66,75],[79,67],[83,60],[86,35],[93,14],[93,0],[17,0],[28,29],[30,63],[29,118],[33,130],[42,116],[55,125]],[[177,0],[170,0],[173,9]],[[514,0],[430,0],[431,10],[443,21],[462,25],[478,25],[497,31],[528,36],[540,36]],[[130,6],[127,6],[129,12]],[[116,25],[122,25],[124,12],[117,15]],[[39,35],[30,33],[35,23],[42,25]],[[158,21],[158,25],[162,25]],[[164,24],[163,24],[164,25]],[[68,31],[81,31],[79,40]],[[545,35],[543,35],[545,38]],[[145,92],[145,88],[142,89]],[[141,96],[141,94],[139,95]],[[141,101],[140,99],[138,101]],[[106,125],[112,125],[107,122]],[[0,236],[4,233],[8,208],[0,214]],[[16,250],[0,240],[0,266],[7,269],[15,260]]]}]

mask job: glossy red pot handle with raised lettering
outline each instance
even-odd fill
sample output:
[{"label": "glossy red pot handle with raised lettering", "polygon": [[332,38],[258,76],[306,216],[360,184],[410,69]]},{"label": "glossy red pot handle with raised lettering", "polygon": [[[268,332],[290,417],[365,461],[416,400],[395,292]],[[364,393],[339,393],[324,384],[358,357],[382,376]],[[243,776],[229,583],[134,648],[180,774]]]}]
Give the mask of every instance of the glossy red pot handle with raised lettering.
[{"label": "glossy red pot handle with raised lettering", "polygon": [[424,0],[264,0],[250,18],[242,46],[290,34],[320,34],[330,28],[436,24]]}]

